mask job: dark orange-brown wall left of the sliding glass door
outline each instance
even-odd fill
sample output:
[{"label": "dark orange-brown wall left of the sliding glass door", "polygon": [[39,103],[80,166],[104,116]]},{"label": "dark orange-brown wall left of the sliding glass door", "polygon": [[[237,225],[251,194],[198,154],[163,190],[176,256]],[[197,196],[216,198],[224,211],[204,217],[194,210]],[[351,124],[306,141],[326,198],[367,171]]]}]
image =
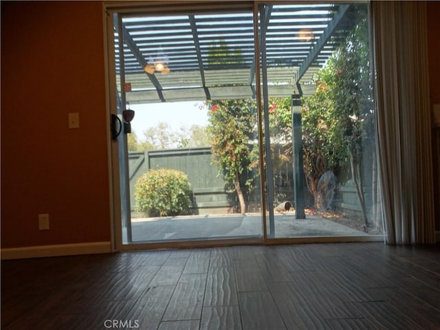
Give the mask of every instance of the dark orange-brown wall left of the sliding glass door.
[{"label": "dark orange-brown wall left of the sliding glass door", "polygon": [[98,1],[1,1],[1,248],[110,241],[103,30]]}]

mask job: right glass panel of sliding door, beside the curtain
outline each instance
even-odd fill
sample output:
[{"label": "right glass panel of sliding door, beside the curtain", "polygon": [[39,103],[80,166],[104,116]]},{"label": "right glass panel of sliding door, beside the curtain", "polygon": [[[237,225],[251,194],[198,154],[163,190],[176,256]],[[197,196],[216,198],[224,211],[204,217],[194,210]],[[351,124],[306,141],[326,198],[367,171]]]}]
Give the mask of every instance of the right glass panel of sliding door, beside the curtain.
[{"label": "right glass panel of sliding door, beside the curtain", "polygon": [[259,7],[267,236],[381,236],[366,3]]}]

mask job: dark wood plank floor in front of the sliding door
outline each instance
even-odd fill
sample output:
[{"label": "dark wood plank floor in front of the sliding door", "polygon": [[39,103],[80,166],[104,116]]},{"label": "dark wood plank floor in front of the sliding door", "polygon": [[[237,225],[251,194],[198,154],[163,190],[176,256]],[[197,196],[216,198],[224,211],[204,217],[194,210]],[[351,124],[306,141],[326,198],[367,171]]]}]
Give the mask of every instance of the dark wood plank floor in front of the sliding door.
[{"label": "dark wood plank floor in front of the sliding door", "polygon": [[2,261],[1,329],[440,329],[440,248],[333,243]]}]

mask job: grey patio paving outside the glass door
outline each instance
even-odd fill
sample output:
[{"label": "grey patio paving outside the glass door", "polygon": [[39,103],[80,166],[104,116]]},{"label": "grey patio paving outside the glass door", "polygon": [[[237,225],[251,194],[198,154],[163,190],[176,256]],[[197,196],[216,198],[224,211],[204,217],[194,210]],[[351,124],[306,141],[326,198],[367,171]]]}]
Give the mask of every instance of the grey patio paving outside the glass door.
[{"label": "grey patio paving outside the glass door", "polygon": [[[295,219],[294,213],[275,215],[275,237],[368,236],[322,217],[307,215]],[[267,217],[267,233],[269,235]],[[133,241],[214,239],[263,236],[261,214],[213,214],[132,219]]]}]

